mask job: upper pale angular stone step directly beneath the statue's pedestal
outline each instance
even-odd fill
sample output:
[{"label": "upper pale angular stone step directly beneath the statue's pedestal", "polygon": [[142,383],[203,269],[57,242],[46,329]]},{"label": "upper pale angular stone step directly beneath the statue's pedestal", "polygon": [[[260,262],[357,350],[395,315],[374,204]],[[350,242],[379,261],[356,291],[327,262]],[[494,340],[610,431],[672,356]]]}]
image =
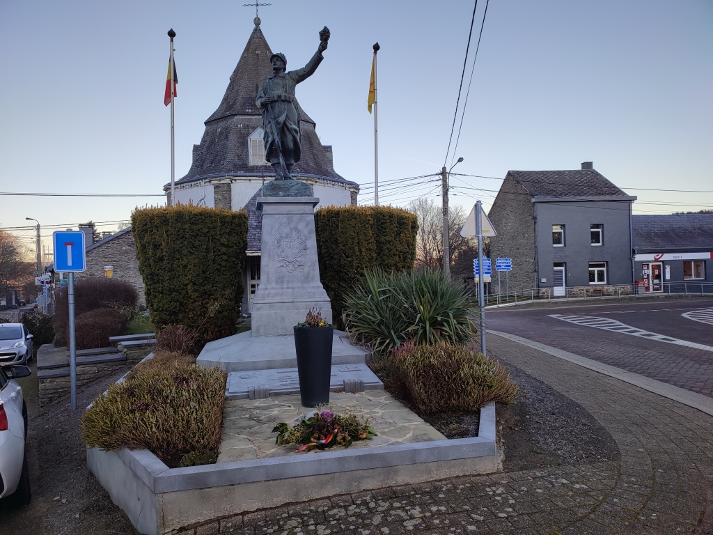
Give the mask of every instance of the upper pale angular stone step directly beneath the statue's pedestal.
[{"label": "upper pale angular stone step directly beneath the statue's pedestal", "polygon": [[[334,331],[332,365],[366,364],[369,352],[352,345],[343,331]],[[202,367],[219,366],[226,372],[254,372],[296,368],[294,336],[252,336],[252,331],[208,342],[198,355]]]}]

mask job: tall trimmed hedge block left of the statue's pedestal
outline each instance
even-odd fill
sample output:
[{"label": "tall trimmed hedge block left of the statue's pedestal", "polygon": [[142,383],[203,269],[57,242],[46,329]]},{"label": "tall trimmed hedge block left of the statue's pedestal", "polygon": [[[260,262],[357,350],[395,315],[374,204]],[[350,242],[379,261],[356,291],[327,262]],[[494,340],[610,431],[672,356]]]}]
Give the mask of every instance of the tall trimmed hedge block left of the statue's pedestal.
[{"label": "tall trimmed hedge block left of the statue's pedestal", "polygon": [[247,214],[192,205],[141,208],[131,225],[156,329],[184,325],[198,330],[203,343],[234,335],[245,291]]}]

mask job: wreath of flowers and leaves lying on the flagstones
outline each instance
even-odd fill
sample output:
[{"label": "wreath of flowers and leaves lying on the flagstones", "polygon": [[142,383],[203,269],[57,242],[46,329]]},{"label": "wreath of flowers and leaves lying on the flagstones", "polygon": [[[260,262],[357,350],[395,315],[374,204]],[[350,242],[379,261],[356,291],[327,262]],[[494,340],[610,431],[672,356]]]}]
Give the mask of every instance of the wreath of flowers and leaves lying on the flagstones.
[{"label": "wreath of flowers and leaves lying on the flagstones", "polygon": [[376,437],[369,419],[361,419],[353,412],[334,414],[329,409],[315,411],[311,416],[295,422],[293,427],[281,422],[272,429],[277,433],[276,444],[301,444],[296,452],[326,449],[334,446],[349,447],[356,440]]}]

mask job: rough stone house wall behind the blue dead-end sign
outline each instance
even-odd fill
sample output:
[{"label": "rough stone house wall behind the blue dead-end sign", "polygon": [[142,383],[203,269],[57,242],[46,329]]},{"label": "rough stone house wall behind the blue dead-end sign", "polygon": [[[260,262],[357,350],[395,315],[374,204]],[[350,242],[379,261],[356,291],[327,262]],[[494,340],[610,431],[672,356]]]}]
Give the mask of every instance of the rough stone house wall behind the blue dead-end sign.
[{"label": "rough stone house wall behind the blue dead-end sign", "polygon": [[92,245],[87,250],[86,258],[87,269],[83,273],[77,273],[76,280],[84,277],[103,277],[104,266],[113,265],[113,278],[129,282],[138,292],[139,304],[146,305],[143,278],[138,271],[136,245],[130,228],[120,230]]}]

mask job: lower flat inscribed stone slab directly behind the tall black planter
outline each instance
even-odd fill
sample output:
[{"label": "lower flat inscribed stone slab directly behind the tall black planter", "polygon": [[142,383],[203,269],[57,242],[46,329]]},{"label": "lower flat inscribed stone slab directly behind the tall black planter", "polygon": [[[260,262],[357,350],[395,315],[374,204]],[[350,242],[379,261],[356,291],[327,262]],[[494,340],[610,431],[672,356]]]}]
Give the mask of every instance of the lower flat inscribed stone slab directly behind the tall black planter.
[{"label": "lower flat inscribed stone slab directly behind the tall black planter", "polygon": [[[329,391],[383,390],[384,383],[365,364],[332,366]],[[225,396],[230,399],[264,399],[279,394],[298,394],[297,368],[230,372]]]}]

